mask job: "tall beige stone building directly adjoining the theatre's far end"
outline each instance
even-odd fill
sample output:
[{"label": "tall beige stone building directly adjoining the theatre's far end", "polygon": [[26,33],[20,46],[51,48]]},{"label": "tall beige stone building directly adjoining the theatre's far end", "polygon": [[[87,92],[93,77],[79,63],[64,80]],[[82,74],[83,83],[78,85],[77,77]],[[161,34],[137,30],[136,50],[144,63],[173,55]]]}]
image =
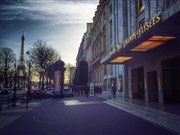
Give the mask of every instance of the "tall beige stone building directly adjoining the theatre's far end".
[{"label": "tall beige stone building directly adjoining the theatre's far end", "polygon": [[92,82],[96,88],[105,90],[104,76],[107,66],[101,64],[101,58],[106,55],[107,48],[107,1],[100,0],[93,18],[91,31],[92,47]]}]

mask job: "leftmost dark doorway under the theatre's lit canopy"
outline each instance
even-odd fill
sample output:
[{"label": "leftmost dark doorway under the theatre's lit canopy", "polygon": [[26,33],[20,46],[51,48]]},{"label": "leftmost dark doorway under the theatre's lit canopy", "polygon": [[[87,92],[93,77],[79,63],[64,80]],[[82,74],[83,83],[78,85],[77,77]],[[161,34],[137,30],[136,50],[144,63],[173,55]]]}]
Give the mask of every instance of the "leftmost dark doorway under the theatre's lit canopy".
[{"label": "leftmost dark doorway under the theatre's lit canopy", "polygon": [[144,99],[144,68],[132,69],[132,98]]}]

